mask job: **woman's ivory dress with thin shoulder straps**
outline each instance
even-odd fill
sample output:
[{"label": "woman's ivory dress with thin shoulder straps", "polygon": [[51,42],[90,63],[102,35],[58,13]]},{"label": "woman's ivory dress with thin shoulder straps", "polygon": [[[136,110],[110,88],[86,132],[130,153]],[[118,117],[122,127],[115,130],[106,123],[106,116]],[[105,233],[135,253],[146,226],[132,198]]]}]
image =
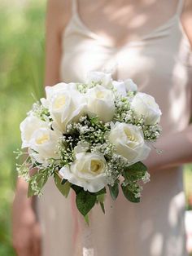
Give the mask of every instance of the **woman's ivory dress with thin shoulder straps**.
[{"label": "woman's ivory dress with thin shoulder straps", "polygon": [[[63,82],[83,82],[89,70],[114,68],[115,79],[131,77],[139,90],[153,96],[163,116],[164,134],[185,129],[190,120],[192,68],[190,42],[177,12],[142,39],[120,48],[108,46],[81,21],[72,2],[72,19],[63,32],[60,74]],[[87,227],[52,179],[37,202],[43,256],[186,256],[185,195],[181,167],[151,174],[142,202],[116,202],[107,196],[106,214],[96,206]]]}]

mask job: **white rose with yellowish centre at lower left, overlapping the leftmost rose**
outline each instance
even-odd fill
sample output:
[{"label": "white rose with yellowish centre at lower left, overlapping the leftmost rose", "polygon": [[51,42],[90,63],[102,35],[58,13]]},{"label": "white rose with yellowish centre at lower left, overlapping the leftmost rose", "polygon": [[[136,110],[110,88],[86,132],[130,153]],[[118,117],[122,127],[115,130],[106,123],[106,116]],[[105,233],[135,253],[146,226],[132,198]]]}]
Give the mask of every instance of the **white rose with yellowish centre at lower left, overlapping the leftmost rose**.
[{"label": "white rose with yellowish centre at lower left, overlapping the leftmost rose", "polygon": [[30,148],[38,154],[38,161],[45,161],[47,158],[58,158],[58,146],[61,133],[50,128],[40,128],[33,133],[29,141]]}]

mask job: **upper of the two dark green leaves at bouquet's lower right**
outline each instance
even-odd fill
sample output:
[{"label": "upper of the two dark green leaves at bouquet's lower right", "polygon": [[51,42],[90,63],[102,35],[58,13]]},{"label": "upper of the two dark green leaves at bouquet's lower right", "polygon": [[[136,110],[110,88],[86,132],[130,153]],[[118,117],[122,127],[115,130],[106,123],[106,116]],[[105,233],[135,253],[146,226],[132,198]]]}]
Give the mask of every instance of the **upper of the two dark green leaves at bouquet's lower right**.
[{"label": "upper of the two dark green leaves at bouquet's lower right", "polygon": [[132,166],[127,167],[127,169],[123,172],[123,176],[124,179],[129,180],[129,182],[134,182],[142,179],[146,174],[146,170],[146,166],[141,161],[138,161]]}]

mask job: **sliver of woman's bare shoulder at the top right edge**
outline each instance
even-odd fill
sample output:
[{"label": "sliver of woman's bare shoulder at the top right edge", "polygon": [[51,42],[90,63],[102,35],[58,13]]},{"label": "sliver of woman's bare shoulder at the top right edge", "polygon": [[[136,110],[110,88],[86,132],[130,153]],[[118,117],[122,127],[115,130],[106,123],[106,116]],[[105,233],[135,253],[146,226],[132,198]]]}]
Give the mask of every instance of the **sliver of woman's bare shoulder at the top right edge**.
[{"label": "sliver of woman's bare shoulder at the top right edge", "polygon": [[185,29],[185,32],[190,40],[190,44],[192,46],[192,1],[185,0],[185,6],[183,8],[182,16],[181,16],[182,24]]}]

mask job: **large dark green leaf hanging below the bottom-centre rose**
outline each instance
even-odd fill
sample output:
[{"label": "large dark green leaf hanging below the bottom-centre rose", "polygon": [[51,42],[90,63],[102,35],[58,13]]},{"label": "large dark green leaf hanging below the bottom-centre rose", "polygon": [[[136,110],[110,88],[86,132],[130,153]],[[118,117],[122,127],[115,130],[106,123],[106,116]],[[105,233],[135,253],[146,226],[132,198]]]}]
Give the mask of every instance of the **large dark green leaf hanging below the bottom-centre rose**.
[{"label": "large dark green leaf hanging below the bottom-centre rose", "polygon": [[94,207],[96,202],[96,195],[91,194],[88,191],[81,190],[76,194],[76,207],[83,216],[89,213]]}]

